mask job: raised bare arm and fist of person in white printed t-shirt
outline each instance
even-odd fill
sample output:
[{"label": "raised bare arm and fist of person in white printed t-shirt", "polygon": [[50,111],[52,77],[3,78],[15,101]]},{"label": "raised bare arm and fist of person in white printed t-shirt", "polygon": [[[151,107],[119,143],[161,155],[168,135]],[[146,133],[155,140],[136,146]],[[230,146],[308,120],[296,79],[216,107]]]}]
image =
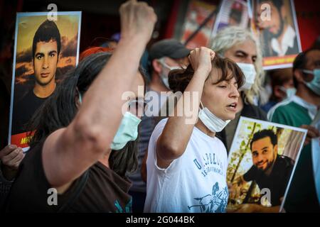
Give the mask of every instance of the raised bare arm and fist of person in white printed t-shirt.
[{"label": "raised bare arm and fist of person in white printed t-shirt", "polygon": [[[211,60],[213,60],[214,55],[215,52],[208,48],[196,48],[191,51],[189,60],[194,70],[193,78],[178,100],[174,109],[175,115],[169,117],[164,131],[157,141],[156,154],[159,167],[168,167],[173,160],[180,157],[186,150],[196,121],[189,122],[191,116],[186,116],[186,113],[191,111],[191,109],[184,104],[184,100],[190,100],[189,106],[195,107],[192,108],[192,116],[193,119],[196,119],[198,117],[203,86],[210,74]],[[198,96],[195,96],[194,99],[193,92],[198,93]],[[178,108],[183,108],[182,116],[176,116]]]}]

